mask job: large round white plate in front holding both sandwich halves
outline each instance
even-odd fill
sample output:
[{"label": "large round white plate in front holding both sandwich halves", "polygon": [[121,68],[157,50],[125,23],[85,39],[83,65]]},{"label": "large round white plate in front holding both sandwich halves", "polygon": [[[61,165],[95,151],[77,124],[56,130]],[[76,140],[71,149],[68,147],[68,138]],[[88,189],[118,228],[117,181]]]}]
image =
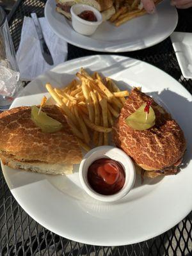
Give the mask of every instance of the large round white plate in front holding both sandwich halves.
[{"label": "large round white plate in front holding both sandwich halves", "polygon": [[185,166],[177,175],[148,179],[118,202],[104,204],[88,196],[78,173],[56,177],[3,167],[6,182],[21,207],[41,225],[60,236],[87,244],[117,246],[157,236],[192,209],[192,97],[175,79],[145,62],[122,56],[90,56],[67,61],[29,83],[12,108],[39,104],[45,83],[63,86],[79,68],[113,77],[122,89],[142,86],[173,114],[188,141]]}]

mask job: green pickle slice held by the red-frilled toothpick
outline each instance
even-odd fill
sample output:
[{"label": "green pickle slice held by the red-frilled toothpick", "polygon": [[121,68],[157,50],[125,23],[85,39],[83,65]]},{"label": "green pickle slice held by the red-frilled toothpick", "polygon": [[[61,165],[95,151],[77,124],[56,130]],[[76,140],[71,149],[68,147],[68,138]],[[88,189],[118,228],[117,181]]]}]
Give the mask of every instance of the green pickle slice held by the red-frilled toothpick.
[{"label": "green pickle slice held by the red-frilled toothpick", "polygon": [[[140,106],[134,113],[125,119],[125,122],[132,129],[143,131],[153,127],[156,124],[156,114],[152,107],[149,107],[149,113],[145,112],[146,103]],[[146,119],[147,116],[147,119]]]}]

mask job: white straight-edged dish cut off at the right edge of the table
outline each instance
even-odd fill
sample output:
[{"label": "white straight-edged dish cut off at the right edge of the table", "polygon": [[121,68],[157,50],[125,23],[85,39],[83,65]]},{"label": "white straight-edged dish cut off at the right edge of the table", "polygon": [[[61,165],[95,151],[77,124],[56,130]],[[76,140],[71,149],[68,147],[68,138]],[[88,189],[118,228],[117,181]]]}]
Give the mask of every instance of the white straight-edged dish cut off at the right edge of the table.
[{"label": "white straight-edged dish cut off at the right edge of the table", "polygon": [[192,33],[174,32],[171,40],[182,75],[192,78]]}]

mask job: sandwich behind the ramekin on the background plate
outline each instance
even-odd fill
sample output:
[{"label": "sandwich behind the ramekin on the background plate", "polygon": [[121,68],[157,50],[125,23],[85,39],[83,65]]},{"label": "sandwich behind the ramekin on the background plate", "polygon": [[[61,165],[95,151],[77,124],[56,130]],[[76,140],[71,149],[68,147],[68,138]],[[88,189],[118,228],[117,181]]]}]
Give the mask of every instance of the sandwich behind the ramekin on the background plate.
[{"label": "sandwich behind the ramekin on the background plate", "polygon": [[111,0],[56,0],[56,11],[71,20],[70,8],[74,4],[87,4],[97,9],[102,14],[103,21],[108,20],[115,13]]}]

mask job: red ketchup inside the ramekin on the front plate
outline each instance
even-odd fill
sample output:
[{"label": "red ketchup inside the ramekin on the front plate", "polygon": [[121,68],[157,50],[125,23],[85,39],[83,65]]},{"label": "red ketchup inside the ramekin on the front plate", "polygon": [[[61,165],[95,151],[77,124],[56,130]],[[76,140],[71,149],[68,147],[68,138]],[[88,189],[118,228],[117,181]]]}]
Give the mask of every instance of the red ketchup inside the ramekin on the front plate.
[{"label": "red ketchup inside the ramekin on the front plate", "polygon": [[125,184],[124,168],[113,159],[97,159],[88,168],[88,182],[97,193],[114,195]]}]

